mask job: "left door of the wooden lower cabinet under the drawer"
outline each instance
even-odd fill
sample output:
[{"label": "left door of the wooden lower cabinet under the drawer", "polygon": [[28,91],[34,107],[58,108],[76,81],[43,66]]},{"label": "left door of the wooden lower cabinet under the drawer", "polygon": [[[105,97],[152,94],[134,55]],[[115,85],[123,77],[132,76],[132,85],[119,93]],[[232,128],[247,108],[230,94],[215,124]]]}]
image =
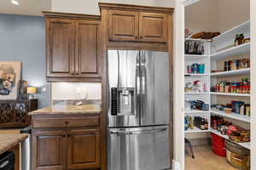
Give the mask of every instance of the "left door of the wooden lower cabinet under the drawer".
[{"label": "left door of the wooden lower cabinet under the drawer", "polygon": [[33,133],[33,169],[62,170],[66,165],[66,136],[64,131]]}]

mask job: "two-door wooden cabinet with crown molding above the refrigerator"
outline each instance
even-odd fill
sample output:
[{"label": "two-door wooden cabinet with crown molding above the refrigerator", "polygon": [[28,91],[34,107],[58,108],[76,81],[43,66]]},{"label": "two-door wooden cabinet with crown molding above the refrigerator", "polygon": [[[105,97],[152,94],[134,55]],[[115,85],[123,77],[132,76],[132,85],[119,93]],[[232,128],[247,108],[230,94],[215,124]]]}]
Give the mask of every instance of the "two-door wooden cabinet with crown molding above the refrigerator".
[{"label": "two-door wooden cabinet with crown molding above the refrigerator", "polygon": [[[99,7],[103,30],[108,33],[104,41],[109,44],[127,42],[123,44],[128,48],[165,48],[171,44],[169,39],[172,37],[173,8],[118,3],[99,3]],[[134,45],[133,42],[143,43]]]}]

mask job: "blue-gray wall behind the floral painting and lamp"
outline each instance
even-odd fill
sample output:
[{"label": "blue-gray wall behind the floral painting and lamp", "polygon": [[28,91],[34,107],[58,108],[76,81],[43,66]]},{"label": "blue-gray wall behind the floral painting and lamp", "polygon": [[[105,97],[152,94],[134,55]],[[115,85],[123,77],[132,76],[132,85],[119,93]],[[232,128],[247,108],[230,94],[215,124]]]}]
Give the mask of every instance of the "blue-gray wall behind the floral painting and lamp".
[{"label": "blue-gray wall behind the floral painting and lamp", "polygon": [[22,77],[29,86],[47,89],[38,94],[39,108],[49,106],[45,81],[44,18],[0,14],[0,60],[22,61]]}]

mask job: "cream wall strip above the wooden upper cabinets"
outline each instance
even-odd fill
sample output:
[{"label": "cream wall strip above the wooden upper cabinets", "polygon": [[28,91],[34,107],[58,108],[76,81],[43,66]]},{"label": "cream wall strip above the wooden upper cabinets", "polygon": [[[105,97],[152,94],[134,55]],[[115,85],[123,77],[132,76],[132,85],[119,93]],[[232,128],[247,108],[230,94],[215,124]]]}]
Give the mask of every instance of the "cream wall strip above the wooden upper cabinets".
[{"label": "cream wall strip above the wooden upper cabinets", "polygon": [[137,5],[153,5],[155,0],[52,0],[52,11],[79,13],[79,14],[100,14],[98,3],[126,3]]}]

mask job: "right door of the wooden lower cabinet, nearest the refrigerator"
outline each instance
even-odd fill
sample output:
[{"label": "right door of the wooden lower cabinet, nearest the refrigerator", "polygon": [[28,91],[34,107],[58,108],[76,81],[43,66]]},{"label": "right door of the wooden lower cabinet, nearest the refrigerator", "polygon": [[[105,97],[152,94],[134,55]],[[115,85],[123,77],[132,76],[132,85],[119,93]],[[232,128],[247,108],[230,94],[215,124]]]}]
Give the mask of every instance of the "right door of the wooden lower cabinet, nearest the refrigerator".
[{"label": "right door of the wooden lower cabinet, nearest the refrigerator", "polygon": [[67,169],[100,167],[99,130],[70,130],[67,133]]}]

